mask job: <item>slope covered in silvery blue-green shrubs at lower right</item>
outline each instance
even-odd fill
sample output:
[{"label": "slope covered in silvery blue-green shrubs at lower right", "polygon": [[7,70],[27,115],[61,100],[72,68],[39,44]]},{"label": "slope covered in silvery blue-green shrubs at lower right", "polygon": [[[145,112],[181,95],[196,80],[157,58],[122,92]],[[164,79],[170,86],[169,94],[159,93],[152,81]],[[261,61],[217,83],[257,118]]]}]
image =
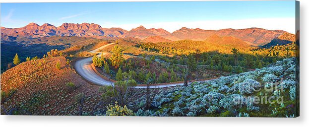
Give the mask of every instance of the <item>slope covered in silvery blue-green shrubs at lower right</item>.
[{"label": "slope covered in silvery blue-green shrubs at lower right", "polygon": [[[278,86],[273,88],[269,81]],[[161,89],[154,108],[140,109],[135,116],[294,117],[299,110],[296,81],[295,59],[284,59],[254,71]],[[268,96],[273,103],[267,103]],[[131,105],[140,108],[136,103],[144,98]]]}]

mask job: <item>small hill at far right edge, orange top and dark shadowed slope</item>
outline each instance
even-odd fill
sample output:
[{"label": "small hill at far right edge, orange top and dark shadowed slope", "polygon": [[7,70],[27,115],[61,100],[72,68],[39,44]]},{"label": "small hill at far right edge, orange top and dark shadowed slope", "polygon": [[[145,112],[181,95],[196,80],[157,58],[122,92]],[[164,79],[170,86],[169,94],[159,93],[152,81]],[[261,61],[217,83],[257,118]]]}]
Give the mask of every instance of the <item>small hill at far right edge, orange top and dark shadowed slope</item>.
[{"label": "small hill at far right edge, orange top and dark shadowed slope", "polygon": [[286,45],[292,42],[295,42],[295,35],[286,32],[276,37],[275,39],[271,40],[269,43],[267,43],[263,47],[269,48],[271,46]]}]

